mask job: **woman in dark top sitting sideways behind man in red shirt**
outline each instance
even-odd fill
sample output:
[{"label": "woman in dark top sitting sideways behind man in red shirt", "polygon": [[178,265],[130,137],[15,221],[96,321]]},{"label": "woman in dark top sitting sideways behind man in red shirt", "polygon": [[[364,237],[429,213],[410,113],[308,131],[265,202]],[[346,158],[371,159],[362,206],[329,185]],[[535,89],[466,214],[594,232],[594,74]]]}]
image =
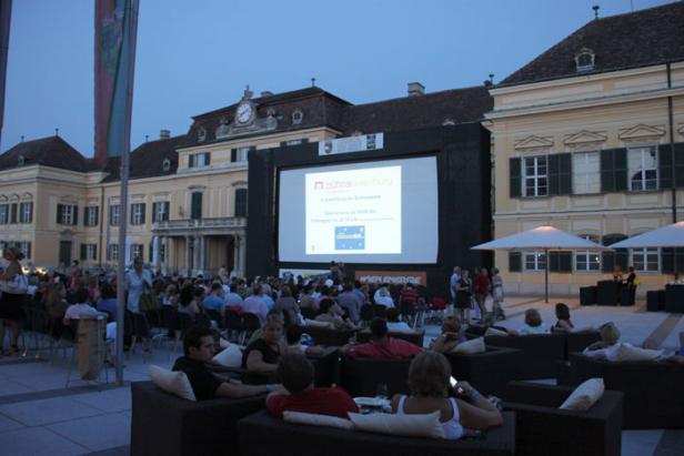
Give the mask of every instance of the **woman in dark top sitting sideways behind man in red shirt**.
[{"label": "woman in dark top sitting sideways behind man in red shirt", "polygon": [[269,318],[263,325],[260,338],[247,346],[242,354],[242,368],[247,373],[242,383],[259,385],[273,378],[280,356],[288,351],[283,341],[283,324],[281,318]]}]

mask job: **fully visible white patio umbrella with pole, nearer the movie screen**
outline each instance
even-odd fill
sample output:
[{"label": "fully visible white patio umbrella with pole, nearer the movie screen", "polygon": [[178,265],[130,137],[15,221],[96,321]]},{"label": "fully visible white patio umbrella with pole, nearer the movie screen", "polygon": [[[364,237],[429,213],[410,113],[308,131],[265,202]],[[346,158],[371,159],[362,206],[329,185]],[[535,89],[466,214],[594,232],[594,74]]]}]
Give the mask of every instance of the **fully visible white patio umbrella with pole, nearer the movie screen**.
[{"label": "fully visible white patio umbrella with pole, nearer the movie screen", "polygon": [[605,247],[580,236],[561,231],[556,227],[544,225],[534,230],[512,234],[495,241],[471,247],[473,250],[543,250],[546,259],[544,266],[544,301],[549,302],[549,251],[610,251],[613,246]]}]

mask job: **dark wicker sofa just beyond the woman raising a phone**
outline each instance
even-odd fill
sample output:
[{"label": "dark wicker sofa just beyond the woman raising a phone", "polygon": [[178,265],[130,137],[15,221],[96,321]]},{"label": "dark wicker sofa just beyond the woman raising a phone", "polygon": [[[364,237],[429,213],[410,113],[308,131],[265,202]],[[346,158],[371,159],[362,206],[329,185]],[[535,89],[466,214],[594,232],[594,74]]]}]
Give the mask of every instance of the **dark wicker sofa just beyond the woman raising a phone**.
[{"label": "dark wicker sofa just beyond the woman raising a phone", "polygon": [[515,379],[520,351],[487,345],[486,352],[472,355],[447,353],[451,373],[467,381],[484,394],[503,397],[506,383]]}]

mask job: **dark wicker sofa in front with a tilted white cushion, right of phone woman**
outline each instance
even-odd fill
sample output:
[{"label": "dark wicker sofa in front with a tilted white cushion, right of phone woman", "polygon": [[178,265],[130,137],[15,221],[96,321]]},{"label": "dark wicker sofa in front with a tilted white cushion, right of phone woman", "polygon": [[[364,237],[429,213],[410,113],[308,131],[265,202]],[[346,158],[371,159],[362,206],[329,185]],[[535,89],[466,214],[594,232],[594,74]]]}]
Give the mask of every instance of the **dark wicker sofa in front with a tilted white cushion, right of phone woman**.
[{"label": "dark wicker sofa in front with a tilted white cushion, right of phone woman", "polygon": [[606,391],[586,412],[559,406],[572,387],[511,382],[504,409],[515,412],[515,449],[526,456],[618,456],[623,393]]}]

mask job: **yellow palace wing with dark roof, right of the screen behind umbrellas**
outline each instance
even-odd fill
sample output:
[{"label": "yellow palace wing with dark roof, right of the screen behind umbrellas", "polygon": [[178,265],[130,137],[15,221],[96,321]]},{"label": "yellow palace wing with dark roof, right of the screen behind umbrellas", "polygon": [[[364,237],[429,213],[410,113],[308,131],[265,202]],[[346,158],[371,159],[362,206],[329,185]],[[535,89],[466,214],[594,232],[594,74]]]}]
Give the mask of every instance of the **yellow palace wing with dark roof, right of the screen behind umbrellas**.
[{"label": "yellow palace wing with dark roof, right of the screen behind umbrellas", "polygon": [[[608,245],[684,220],[684,2],[593,20],[490,93],[495,237],[553,224]],[[674,261],[668,249],[495,255],[520,293],[543,291],[546,262],[552,293],[628,265],[643,293]]]}]

